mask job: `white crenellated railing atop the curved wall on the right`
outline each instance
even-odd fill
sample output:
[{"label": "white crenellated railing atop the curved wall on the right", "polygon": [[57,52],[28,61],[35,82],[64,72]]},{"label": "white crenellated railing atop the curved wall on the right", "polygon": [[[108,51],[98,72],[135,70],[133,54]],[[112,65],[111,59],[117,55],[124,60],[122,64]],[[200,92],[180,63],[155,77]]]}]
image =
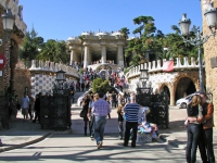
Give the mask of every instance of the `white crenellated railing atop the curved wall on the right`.
[{"label": "white crenellated railing atop the curved wall on the right", "polygon": [[[149,63],[143,63],[138,66],[131,67],[129,72],[126,74],[127,78],[131,78],[135,76],[140,75],[140,70],[149,70],[149,73],[157,73],[157,72],[163,72],[164,67],[164,61],[167,61],[166,59],[163,60],[157,60],[157,61],[152,61]],[[199,64],[196,64],[195,58],[190,59],[190,63],[188,58],[183,58],[183,64],[181,64],[181,59],[176,58],[175,65],[174,65],[174,71],[179,71],[179,70],[190,70],[190,68],[199,68]],[[204,67],[204,65],[203,65]]]}]

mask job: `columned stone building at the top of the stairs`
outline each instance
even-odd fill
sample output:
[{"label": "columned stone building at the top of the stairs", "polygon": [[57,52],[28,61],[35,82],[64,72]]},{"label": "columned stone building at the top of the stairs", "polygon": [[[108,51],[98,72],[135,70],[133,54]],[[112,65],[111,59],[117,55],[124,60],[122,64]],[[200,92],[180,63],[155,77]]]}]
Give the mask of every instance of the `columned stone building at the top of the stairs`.
[{"label": "columned stone building at the top of the stairs", "polygon": [[84,32],[81,38],[69,37],[66,41],[71,53],[69,64],[84,63],[84,67],[93,64],[116,64],[124,66],[125,38],[120,32]]}]

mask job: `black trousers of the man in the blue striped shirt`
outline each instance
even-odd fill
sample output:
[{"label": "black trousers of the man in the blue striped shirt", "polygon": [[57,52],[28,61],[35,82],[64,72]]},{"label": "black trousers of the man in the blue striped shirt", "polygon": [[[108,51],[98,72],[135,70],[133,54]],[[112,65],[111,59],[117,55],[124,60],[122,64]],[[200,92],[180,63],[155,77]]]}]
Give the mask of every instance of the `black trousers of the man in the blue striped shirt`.
[{"label": "black trousers of the man in the blue striped shirt", "polygon": [[136,147],[138,122],[126,122],[125,142],[124,142],[124,145],[128,146],[129,137],[130,137],[130,129],[131,128],[132,128],[131,146]]}]

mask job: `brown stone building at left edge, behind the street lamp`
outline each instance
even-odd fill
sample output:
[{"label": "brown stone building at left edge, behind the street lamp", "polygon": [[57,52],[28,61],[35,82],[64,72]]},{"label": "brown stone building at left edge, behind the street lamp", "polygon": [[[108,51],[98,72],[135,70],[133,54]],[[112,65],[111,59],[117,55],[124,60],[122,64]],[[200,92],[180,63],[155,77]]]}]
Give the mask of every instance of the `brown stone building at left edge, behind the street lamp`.
[{"label": "brown stone building at left edge, behind the street lamp", "polygon": [[[18,0],[1,0],[0,1],[0,14],[4,14],[7,7],[11,10],[15,16],[15,24],[11,38],[0,47],[0,53],[7,59],[7,64],[3,70],[0,70],[0,96],[5,93],[5,90],[10,87],[14,89],[14,68],[17,63],[18,46],[22,43],[26,32],[26,24],[23,21],[23,5],[18,4]],[[3,30],[3,23],[0,16],[0,36],[5,36]]]}]

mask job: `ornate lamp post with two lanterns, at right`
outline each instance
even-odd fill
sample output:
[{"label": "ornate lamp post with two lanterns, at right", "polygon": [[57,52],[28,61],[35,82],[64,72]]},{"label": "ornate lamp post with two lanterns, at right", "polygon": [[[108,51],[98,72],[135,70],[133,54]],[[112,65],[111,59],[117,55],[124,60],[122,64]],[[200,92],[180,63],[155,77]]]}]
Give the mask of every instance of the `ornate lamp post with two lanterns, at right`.
[{"label": "ornate lamp post with two lanterns, at right", "polygon": [[[210,3],[209,9],[204,13],[204,15],[206,17],[208,28],[212,32],[212,34],[207,35],[207,36],[202,36],[200,27],[197,27],[195,38],[188,39],[191,21],[189,18],[187,18],[187,14],[183,14],[182,20],[180,20],[180,22],[179,22],[181,35],[182,35],[184,42],[186,43],[189,42],[192,46],[197,46],[197,49],[199,49],[199,79],[200,79],[200,91],[201,92],[205,92],[201,46],[203,43],[205,43],[210,36],[216,35],[216,27],[217,27],[217,10],[214,9],[213,3]],[[215,30],[213,28],[215,28]]]}]

